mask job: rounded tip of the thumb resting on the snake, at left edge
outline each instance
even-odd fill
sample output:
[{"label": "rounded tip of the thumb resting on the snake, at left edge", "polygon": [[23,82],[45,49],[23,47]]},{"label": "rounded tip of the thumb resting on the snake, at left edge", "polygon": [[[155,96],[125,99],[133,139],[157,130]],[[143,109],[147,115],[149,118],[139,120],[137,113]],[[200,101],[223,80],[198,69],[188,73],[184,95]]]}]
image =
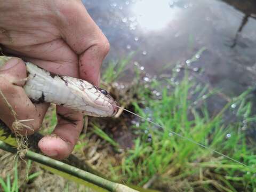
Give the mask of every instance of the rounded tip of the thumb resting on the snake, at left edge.
[{"label": "rounded tip of the thumb resting on the snake, at left edge", "polygon": [[0,67],[0,76],[5,77],[12,84],[23,86],[27,77],[25,63],[19,58],[12,58]]}]

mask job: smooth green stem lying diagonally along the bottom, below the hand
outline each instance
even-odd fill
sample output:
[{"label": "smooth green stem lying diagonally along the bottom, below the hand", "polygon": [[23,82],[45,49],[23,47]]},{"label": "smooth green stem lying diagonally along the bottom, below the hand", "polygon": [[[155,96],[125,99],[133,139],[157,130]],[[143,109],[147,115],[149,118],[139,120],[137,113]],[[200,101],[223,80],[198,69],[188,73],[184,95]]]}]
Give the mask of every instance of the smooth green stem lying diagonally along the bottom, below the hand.
[{"label": "smooth green stem lying diagonally along the bottom, below the hand", "polygon": [[[8,145],[7,143],[5,143],[3,141],[0,141],[0,149],[3,149],[5,151],[8,151],[13,154],[17,153],[16,148]],[[30,150],[26,151],[25,157],[28,159],[31,159],[37,163],[41,163],[41,164],[50,166],[54,169],[60,170],[62,172],[73,175],[77,178],[83,179],[87,182],[91,182],[94,185],[97,185],[97,186],[107,189],[109,191],[117,191],[117,192],[119,192],[119,191],[137,191],[137,190],[131,189],[127,186],[121,185],[119,183],[108,181],[106,179],[98,177],[97,175],[94,175],[92,173],[89,173],[89,172],[83,171],[81,169],[78,169],[76,167],[70,166],[66,163],[62,163],[62,162],[52,159],[50,157],[46,157],[44,155],[37,154]]]}]

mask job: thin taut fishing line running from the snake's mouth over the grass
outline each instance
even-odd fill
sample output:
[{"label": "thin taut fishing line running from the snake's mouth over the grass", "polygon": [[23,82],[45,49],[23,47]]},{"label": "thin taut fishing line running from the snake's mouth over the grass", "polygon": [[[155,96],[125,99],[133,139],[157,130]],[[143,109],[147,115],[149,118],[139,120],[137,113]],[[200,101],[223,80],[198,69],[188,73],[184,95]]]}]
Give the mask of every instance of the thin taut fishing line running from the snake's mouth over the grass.
[{"label": "thin taut fishing line running from the snake's mouth over the grass", "polygon": [[[119,109],[122,108],[122,107],[119,107],[119,106],[114,105],[114,104],[112,104],[112,105],[115,106],[115,107],[117,107],[117,108],[119,108]],[[154,124],[154,125],[156,125],[156,126],[162,128],[162,129],[164,130],[164,126],[159,125],[159,124],[157,124],[157,123],[151,121],[150,119],[147,119],[147,118],[142,117],[142,116],[140,116],[140,115],[138,115],[138,114],[135,114],[135,113],[133,113],[132,111],[130,111],[130,110],[128,110],[128,109],[125,109],[125,108],[122,108],[122,109],[123,109],[124,111],[130,113],[130,114],[133,114],[133,115],[135,115],[135,116],[137,116],[137,117],[139,117],[139,118],[141,118],[141,119],[144,119],[145,121],[147,121],[147,122],[149,122],[149,123],[151,123],[151,124]],[[200,147],[202,147],[202,148],[205,148],[205,149],[207,149],[207,150],[210,150],[210,151],[212,151],[212,152],[215,153],[215,154],[221,155],[221,156],[223,156],[223,157],[225,157],[225,158],[227,158],[227,159],[229,159],[229,160],[231,160],[231,161],[233,161],[233,162],[236,162],[236,163],[241,164],[241,165],[243,165],[243,166],[245,166],[245,167],[247,167],[247,168],[250,168],[250,166],[248,166],[248,165],[246,165],[246,164],[244,164],[244,163],[242,163],[242,162],[239,162],[239,161],[237,161],[236,159],[234,159],[234,158],[232,158],[232,157],[229,157],[229,156],[227,156],[227,155],[225,155],[225,154],[222,154],[222,153],[220,153],[219,151],[217,151],[217,150],[215,150],[215,149],[212,149],[212,148],[210,148],[210,147],[207,147],[207,146],[203,145],[202,143],[196,142],[196,141],[194,141],[193,139],[187,138],[187,137],[183,136],[182,134],[176,133],[176,132],[174,132],[174,131],[170,131],[170,132],[171,132],[172,134],[174,134],[174,135],[177,135],[178,137],[180,137],[180,138],[182,138],[182,139],[185,139],[185,140],[187,140],[187,141],[189,141],[189,142],[192,142],[192,143],[194,143],[194,144],[196,144],[196,145],[198,145],[198,146],[200,146]]]}]

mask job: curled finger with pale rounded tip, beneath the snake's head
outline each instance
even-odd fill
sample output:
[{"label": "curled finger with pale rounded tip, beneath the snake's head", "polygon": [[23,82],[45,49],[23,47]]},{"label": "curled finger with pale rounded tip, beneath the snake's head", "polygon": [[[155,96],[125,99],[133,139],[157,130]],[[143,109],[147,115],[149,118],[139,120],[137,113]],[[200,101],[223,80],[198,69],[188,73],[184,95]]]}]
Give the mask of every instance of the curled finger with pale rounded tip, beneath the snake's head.
[{"label": "curled finger with pale rounded tip, beneath the snake's head", "polygon": [[50,157],[67,158],[73,151],[83,127],[83,116],[73,110],[57,106],[58,124],[53,134],[42,138],[38,147]]}]

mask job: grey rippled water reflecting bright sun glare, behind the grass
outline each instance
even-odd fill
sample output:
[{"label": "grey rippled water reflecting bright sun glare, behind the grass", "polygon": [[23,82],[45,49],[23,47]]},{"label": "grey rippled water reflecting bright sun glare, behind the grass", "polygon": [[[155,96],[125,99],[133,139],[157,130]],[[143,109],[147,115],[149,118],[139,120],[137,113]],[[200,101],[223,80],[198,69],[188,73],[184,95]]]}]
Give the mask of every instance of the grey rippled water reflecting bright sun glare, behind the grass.
[{"label": "grey rippled water reflecting bright sun glare, behind the grass", "polygon": [[[170,75],[179,63],[203,68],[201,81],[230,96],[256,83],[253,0],[87,0],[84,5],[109,39],[106,63],[136,52],[128,77],[134,62],[149,75]],[[190,63],[202,48],[198,60]],[[223,104],[212,103],[215,108]]]}]

